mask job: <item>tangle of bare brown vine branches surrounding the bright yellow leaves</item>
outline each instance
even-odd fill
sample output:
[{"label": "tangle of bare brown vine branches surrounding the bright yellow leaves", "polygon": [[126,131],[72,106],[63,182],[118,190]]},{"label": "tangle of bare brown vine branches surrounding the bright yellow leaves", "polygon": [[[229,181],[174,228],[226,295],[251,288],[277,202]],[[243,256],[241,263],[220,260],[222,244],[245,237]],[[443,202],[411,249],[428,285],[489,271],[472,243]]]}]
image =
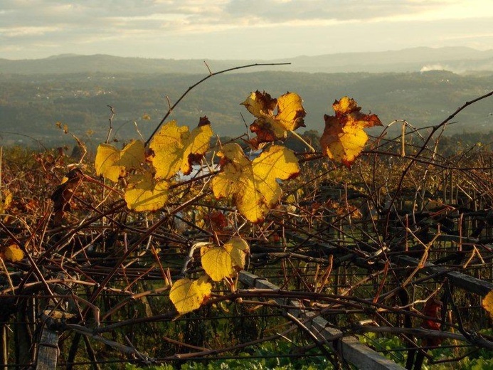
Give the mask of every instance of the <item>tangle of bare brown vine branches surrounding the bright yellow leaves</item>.
[{"label": "tangle of bare brown vine branches surrounding the bright yellow leaves", "polygon": [[[213,199],[207,175],[171,189],[161,211],[134,213],[90,162],[71,169],[63,152],[4,155],[1,186],[14,201],[0,238],[23,258],[1,260],[2,364],[98,369],[241,356],[284,341],[290,353],[278,356],[315,351],[347,368],[359,360],[343,347],[364,351],[354,337],[376,351],[376,338],[398,339],[407,369],[493,350],[481,307],[493,289],[491,145],[440,154],[447,123],[492,94],[434,127],[398,122],[401,135],[385,130],[350,170],[299,153],[304,176],[257,225]],[[169,288],[201,269],[194,244],[238,233],[250,243],[248,272],[177,317]],[[435,359],[444,347],[454,351]]]}]

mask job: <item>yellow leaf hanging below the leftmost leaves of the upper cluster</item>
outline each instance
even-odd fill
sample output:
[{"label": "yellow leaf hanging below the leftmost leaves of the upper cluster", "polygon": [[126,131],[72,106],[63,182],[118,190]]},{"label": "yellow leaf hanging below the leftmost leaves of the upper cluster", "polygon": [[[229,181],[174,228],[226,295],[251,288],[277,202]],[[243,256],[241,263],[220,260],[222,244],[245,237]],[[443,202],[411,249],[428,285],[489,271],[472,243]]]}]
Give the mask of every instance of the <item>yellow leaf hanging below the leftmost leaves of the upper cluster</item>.
[{"label": "yellow leaf hanging below the leftmost leaves of the upper cluster", "polygon": [[156,180],[149,171],[135,174],[128,179],[125,189],[127,207],[134,211],[157,211],[168,201],[169,183]]}]

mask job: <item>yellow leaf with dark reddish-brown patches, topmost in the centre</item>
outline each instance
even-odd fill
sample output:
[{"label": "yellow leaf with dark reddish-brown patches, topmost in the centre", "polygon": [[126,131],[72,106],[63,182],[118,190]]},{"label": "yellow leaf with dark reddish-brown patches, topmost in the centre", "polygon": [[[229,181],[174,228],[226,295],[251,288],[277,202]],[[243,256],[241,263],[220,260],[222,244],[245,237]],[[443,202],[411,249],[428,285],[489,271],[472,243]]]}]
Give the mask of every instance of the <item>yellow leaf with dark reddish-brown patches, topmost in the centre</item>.
[{"label": "yellow leaf with dark reddish-brown patches, topmost in the centre", "polygon": [[296,93],[286,93],[272,99],[269,94],[257,90],[241,104],[257,117],[250,125],[250,131],[257,134],[257,137],[250,140],[254,147],[258,147],[262,142],[283,140],[287,131],[304,127],[304,116],[307,112],[302,106],[302,98]]}]

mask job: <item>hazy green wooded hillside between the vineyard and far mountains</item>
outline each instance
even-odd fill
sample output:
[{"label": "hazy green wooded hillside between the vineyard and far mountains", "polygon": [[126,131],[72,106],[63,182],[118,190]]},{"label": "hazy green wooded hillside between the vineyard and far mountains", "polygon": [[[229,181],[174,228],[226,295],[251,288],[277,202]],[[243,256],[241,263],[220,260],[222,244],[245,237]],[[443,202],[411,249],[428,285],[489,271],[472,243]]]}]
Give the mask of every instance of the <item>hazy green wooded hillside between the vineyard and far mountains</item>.
[{"label": "hazy green wooded hillside between the vineyard and far mountains", "polygon": [[[166,97],[175,102],[203,75],[106,74],[0,75],[1,144],[58,145],[72,139],[55,127],[68,125],[71,132],[100,142],[112,121],[117,139],[144,137],[152,132],[168,109]],[[384,124],[404,119],[415,127],[436,125],[464,102],[491,90],[493,73],[457,75],[446,71],[428,73],[292,73],[256,72],[218,75],[199,85],[174,110],[170,119],[194,126],[207,115],[215,132],[238,135],[253,122],[240,102],[251,91],[265,90],[278,96],[287,90],[299,93],[307,110],[306,129],[322,131],[323,115],[335,99],[349,95],[365,112],[381,117]],[[151,120],[142,117],[149,115]],[[457,116],[447,133],[489,132],[493,108],[484,100]],[[396,127],[397,129],[397,127]],[[301,130],[302,131],[302,130]]]}]

